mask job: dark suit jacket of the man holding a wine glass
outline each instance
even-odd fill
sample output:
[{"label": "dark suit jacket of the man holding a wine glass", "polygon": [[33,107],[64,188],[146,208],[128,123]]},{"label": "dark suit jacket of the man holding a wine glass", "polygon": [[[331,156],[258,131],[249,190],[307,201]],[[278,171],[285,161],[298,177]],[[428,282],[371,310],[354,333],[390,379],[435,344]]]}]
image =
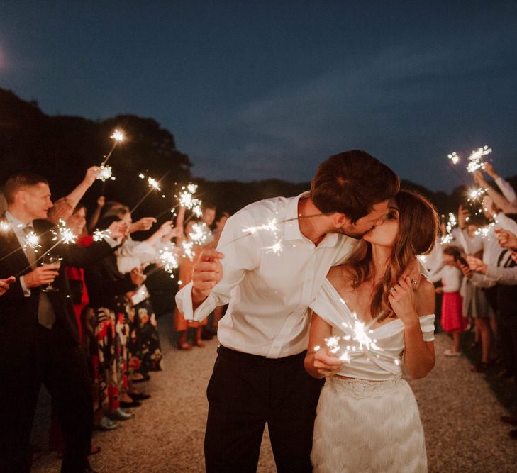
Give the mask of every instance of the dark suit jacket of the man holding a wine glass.
[{"label": "dark suit jacket of the man holding a wine glass", "polygon": [[[0,217],[5,221],[5,216]],[[40,235],[38,257],[55,245],[50,231],[52,223],[45,220],[33,221],[34,231]],[[70,295],[70,285],[65,274],[65,266],[86,267],[96,260],[106,257],[114,248],[105,241],[93,243],[89,247],[58,244],[51,254],[62,257],[59,275],[53,285],[59,289],[48,292],[55,311],[56,322],[65,328],[72,343],[79,343],[79,329],[74,315],[74,305]],[[37,263],[38,264],[38,263]],[[0,279],[27,274],[33,269],[13,230],[0,230]],[[23,294],[19,277],[11,284],[9,291],[0,296],[0,369],[16,369],[28,362],[38,329],[38,304],[40,287],[30,288],[30,296]]]}]

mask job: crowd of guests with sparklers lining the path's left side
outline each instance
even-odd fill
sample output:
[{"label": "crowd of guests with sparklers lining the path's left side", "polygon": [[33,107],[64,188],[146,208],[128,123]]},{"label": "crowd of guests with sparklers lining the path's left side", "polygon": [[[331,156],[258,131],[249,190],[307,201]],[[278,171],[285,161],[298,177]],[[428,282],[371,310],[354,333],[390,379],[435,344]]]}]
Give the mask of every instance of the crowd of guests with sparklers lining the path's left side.
[{"label": "crowd of guests with sparklers lining the path's left side", "polygon": [[[129,409],[150,398],[138,389],[140,383],[162,369],[147,274],[160,270],[160,253],[171,250],[179,261],[179,284],[187,284],[193,261],[180,249],[191,240],[192,226],[198,223],[204,229],[202,243],[191,242],[196,243],[192,253],[197,255],[202,246],[215,247],[228,218],[222,213],[216,221],[215,206],[207,204],[201,218],[186,216],[181,208],[175,222],[158,226],[152,217],[133,222],[128,206],[100,197],[87,219],[80,200],[98,174],[99,167],[91,167],[74,191],[53,203],[43,177],[16,174],[4,184],[2,472],[28,472],[38,458],[30,447],[30,430],[42,383],[52,397],[49,445],[63,458],[62,472],[93,471],[88,456],[99,447],[91,444],[92,430],[113,430],[133,418]],[[55,236],[62,221],[77,238],[75,243]],[[142,241],[131,238],[142,231],[150,236]],[[28,243],[30,233],[38,235],[36,243]],[[50,255],[53,262],[47,261]],[[192,345],[203,347],[201,340],[213,337],[220,317],[221,312],[213,315],[210,329],[196,325]],[[191,349],[187,333],[193,326],[176,311],[180,350]]]}]

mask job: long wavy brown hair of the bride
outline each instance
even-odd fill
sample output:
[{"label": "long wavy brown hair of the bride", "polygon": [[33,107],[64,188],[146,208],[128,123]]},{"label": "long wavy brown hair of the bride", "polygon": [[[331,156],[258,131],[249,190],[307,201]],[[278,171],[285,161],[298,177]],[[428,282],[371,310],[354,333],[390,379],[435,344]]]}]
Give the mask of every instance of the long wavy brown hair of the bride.
[{"label": "long wavy brown hair of the bride", "polygon": [[[428,199],[408,190],[399,191],[394,199],[399,208],[399,232],[384,276],[374,285],[370,304],[372,318],[379,317],[379,321],[394,316],[388,300],[389,289],[416,255],[426,255],[433,250],[438,232],[438,213]],[[345,262],[345,267],[352,274],[354,289],[374,277],[372,245],[362,240]]]}]

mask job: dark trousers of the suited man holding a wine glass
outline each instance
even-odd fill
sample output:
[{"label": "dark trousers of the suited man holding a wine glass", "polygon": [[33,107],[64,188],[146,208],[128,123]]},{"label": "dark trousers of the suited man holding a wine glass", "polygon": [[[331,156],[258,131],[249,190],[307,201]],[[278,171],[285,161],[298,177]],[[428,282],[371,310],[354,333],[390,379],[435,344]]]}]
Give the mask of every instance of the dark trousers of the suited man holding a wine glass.
[{"label": "dark trousers of the suited man holding a wine glass", "polygon": [[52,396],[65,440],[61,471],[81,472],[89,464],[93,428],[84,352],[59,322],[52,330],[39,327],[32,348],[23,366],[0,369],[0,472],[30,471],[30,430],[42,382]]}]

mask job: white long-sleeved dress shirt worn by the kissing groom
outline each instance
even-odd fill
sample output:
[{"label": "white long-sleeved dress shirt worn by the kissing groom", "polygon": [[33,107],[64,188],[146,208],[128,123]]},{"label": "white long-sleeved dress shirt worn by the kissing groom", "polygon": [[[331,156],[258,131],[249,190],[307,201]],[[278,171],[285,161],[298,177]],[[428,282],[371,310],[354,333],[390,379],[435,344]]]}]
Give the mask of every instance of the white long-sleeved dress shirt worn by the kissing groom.
[{"label": "white long-sleeved dress shirt worn by the kissing groom", "polygon": [[[330,267],[343,262],[357,240],[328,234],[316,247],[304,237],[296,218],[299,199],[305,195],[258,201],[228,218],[217,247],[225,255],[221,260],[223,279],[195,313],[192,283],[176,296],[178,308],[187,320],[201,321],[216,306],[229,303],[218,325],[218,339],[223,346],[269,358],[306,350],[308,305]],[[243,232],[273,219],[277,221],[276,233]],[[277,253],[272,247],[278,242],[283,249]]]}]

